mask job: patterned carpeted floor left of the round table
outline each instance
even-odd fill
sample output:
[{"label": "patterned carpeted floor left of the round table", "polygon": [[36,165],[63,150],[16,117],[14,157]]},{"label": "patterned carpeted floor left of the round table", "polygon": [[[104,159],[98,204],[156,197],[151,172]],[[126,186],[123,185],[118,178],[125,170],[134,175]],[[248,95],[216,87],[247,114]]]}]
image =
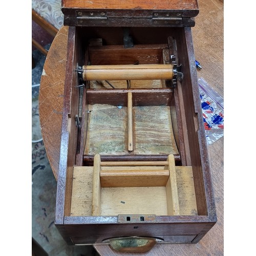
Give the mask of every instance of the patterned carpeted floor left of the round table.
[{"label": "patterned carpeted floor left of the round table", "polygon": [[[32,36],[49,50],[53,38],[36,24]],[[49,164],[44,142],[41,140],[38,93],[46,56],[32,47],[32,238],[49,256],[96,256],[93,246],[69,246],[54,225],[57,182]]]}]

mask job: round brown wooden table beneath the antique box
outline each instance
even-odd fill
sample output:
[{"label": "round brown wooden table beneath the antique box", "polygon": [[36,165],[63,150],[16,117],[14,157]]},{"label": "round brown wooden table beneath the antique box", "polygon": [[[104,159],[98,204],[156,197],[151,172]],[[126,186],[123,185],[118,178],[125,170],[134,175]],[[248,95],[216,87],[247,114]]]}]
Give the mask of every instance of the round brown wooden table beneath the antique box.
[{"label": "round brown wooden table beneath the antique box", "polygon": [[[223,96],[223,2],[198,1],[200,13],[192,29],[196,59],[203,77]],[[57,33],[42,72],[39,91],[39,116],[47,156],[57,179],[66,71],[68,27]],[[217,75],[216,75],[217,74]],[[198,244],[161,244],[143,255],[223,255],[223,138],[208,146],[212,182],[215,189],[217,224]],[[108,245],[95,245],[100,255],[121,255]],[[141,255],[141,253],[125,253]]]}]

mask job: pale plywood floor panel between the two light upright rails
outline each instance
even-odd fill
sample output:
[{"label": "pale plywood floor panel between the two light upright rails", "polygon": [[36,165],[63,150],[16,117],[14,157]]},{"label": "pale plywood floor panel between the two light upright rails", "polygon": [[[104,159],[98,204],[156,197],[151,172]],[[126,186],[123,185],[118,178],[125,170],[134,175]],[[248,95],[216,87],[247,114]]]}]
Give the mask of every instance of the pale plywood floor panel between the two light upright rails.
[{"label": "pale plywood floor panel between the two light upright rails", "polygon": [[101,188],[101,215],[167,215],[165,187]]}]

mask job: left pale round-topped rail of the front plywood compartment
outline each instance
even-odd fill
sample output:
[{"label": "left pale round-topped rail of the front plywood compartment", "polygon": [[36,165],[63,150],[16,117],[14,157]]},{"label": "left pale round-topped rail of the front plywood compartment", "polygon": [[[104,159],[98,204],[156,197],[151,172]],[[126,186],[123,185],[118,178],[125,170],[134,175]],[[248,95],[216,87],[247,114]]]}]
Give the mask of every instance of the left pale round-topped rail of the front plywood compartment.
[{"label": "left pale round-topped rail of the front plywood compartment", "polygon": [[97,154],[94,157],[93,165],[93,202],[92,216],[100,215],[100,156]]}]

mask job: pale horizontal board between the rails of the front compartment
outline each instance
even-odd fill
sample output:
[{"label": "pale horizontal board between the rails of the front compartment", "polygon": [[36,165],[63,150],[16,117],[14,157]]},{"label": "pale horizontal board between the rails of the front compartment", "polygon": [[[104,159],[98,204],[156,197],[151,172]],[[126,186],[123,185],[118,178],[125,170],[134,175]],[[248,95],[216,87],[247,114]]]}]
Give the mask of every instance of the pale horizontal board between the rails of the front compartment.
[{"label": "pale horizontal board between the rails of the front compartment", "polygon": [[101,170],[101,187],[155,187],[165,186],[169,171],[163,169]]}]

